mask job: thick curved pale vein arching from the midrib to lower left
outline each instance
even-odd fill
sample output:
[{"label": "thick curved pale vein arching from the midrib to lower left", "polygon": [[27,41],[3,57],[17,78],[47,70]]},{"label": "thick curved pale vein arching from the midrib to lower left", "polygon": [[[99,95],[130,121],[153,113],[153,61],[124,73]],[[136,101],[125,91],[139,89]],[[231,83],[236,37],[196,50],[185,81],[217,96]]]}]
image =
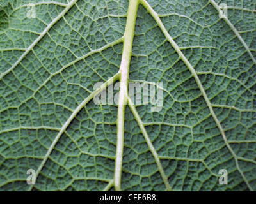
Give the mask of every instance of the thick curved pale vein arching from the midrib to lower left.
[{"label": "thick curved pale vein arching from the midrib to lower left", "polygon": [[[51,146],[49,147],[49,150],[47,151],[47,153],[45,154],[44,160],[42,161],[42,163],[40,164],[40,166],[38,167],[38,169],[36,170],[36,178],[38,177],[40,171],[42,170],[42,168],[44,167],[44,164],[46,163],[47,159],[49,158],[52,150],[54,149],[56,143],[58,142],[58,140],[60,139],[61,135],[66,131],[67,127],[69,126],[70,122],[72,122],[72,120],[76,117],[77,113],[80,112],[80,110],[82,108],[84,108],[84,106],[93,99],[93,97],[98,94],[100,91],[106,89],[106,87],[108,87],[109,83],[113,83],[116,80],[118,80],[120,78],[120,73],[117,73],[116,75],[114,75],[113,77],[109,78],[108,81],[106,81],[104,84],[102,84],[99,89],[96,89],[95,91],[92,92],[92,94],[90,94],[86,99],[84,99],[84,101],[82,103],[80,103],[79,106],[77,106],[76,110],[74,110],[74,112],[70,115],[70,117],[68,118],[68,120],[65,122],[65,124],[63,124],[63,126],[60,129],[60,132],[58,133],[58,135],[56,136],[56,138],[54,139],[54,141],[52,142]],[[28,191],[31,191],[31,189],[33,189],[33,185],[31,185],[28,189]]]}]

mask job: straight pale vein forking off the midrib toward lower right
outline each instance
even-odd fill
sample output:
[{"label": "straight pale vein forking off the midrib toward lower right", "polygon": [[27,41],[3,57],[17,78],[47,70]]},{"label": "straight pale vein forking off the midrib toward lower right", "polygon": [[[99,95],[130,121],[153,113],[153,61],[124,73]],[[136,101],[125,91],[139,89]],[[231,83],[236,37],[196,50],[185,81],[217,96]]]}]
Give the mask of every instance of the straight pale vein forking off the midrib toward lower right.
[{"label": "straight pale vein forking off the midrib toward lower right", "polygon": [[148,136],[148,133],[145,129],[145,126],[143,125],[143,122],[140,118],[140,115],[138,114],[132,100],[130,97],[127,97],[127,102],[128,102],[128,105],[129,107],[131,108],[131,111],[134,115],[134,118],[136,119],[136,121],[138,122],[138,125],[141,129],[141,133],[143,134],[143,136],[145,137],[145,140],[147,142],[147,145],[148,145],[148,148],[150,150],[150,152],[152,152],[153,156],[154,156],[154,159],[156,161],[156,164],[157,164],[157,167],[158,167],[158,170],[159,170],[159,173],[161,174],[161,177],[163,179],[163,182],[164,182],[164,185],[167,189],[167,191],[172,191],[172,187],[170,186],[169,182],[168,182],[168,178],[166,177],[165,173],[164,173],[164,169],[163,169],[163,166],[161,164],[161,161],[159,159],[159,156],[156,152],[156,149],[154,148],[154,146],[152,145],[152,142],[150,141],[150,138]]}]

